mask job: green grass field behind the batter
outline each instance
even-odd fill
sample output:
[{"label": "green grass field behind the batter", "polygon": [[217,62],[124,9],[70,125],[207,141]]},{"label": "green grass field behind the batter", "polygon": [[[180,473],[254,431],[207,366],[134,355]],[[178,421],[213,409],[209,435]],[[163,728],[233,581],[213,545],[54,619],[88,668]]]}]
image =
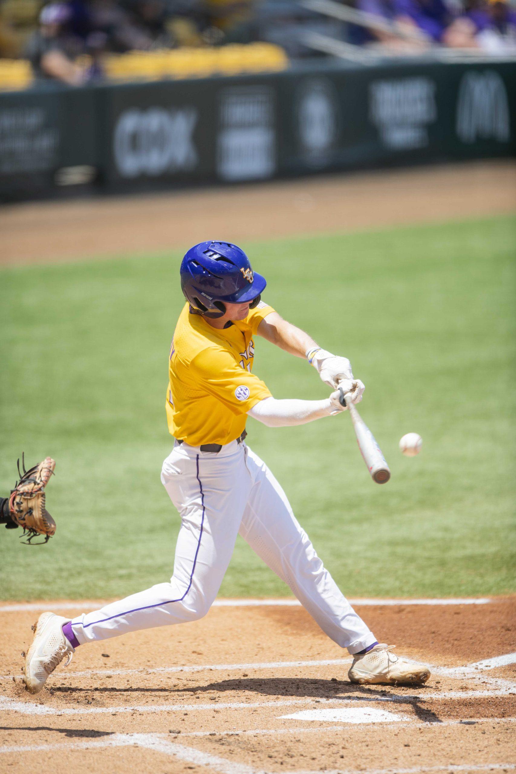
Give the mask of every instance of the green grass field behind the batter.
[{"label": "green grass field behind the batter", "polygon": [[[516,221],[388,229],[243,245],[265,300],[350,358],[361,413],[391,464],[368,476],[348,416],[248,442],[291,499],[347,595],[504,594],[514,574]],[[47,546],[0,529],[0,596],[98,598],[172,574],[179,516],[159,481],[180,255],[6,269],[0,493],[25,450],[56,458]],[[259,339],[275,397],[321,398],[306,361]],[[398,439],[421,433],[422,454]],[[289,590],[241,539],[220,594]]]}]

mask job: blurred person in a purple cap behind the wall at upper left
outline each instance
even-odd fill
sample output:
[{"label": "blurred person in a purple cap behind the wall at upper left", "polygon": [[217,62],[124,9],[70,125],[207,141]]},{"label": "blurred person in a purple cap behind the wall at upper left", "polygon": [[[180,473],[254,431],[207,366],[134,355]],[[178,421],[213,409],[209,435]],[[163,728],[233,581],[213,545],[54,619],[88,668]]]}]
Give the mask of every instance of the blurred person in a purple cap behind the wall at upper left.
[{"label": "blurred person in a purple cap behind the wall at upper left", "polygon": [[70,33],[71,15],[65,3],[46,5],[39,15],[39,29],[32,33],[26,46],[26,57],[36,78],[60,80],[71,86],[84,83],[84,70],[74,61],[84,47]]}]

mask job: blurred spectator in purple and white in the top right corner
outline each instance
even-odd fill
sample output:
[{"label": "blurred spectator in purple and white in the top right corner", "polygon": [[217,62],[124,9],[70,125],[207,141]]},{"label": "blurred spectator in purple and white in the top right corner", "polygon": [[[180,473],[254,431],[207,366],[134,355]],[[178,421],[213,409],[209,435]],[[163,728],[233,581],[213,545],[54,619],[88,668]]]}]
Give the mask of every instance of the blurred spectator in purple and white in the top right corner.
[{"label": "blurred spectator in purple and white in the top right corner", "polygon": [[516,53],[516,12],[505,0],[473,0],[463,15],[446,31],[453,48],[479,49],[484,53]]}]

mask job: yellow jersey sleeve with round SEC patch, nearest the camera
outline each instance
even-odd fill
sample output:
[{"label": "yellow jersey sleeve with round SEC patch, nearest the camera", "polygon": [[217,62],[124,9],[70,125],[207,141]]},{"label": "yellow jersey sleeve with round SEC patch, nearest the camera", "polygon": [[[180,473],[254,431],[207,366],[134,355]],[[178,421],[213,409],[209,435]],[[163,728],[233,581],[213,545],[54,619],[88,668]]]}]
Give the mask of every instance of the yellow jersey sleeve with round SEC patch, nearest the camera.
[{"label": "yellow jersey sleeve with round SEC patch, nearest the camera", "polygon": [[231,352],[222,347],[210,347],[196,354],[190,370],[198,386],[237,416],[248,413],[258,401],[271,397],[265,382],[241,368]]}]

